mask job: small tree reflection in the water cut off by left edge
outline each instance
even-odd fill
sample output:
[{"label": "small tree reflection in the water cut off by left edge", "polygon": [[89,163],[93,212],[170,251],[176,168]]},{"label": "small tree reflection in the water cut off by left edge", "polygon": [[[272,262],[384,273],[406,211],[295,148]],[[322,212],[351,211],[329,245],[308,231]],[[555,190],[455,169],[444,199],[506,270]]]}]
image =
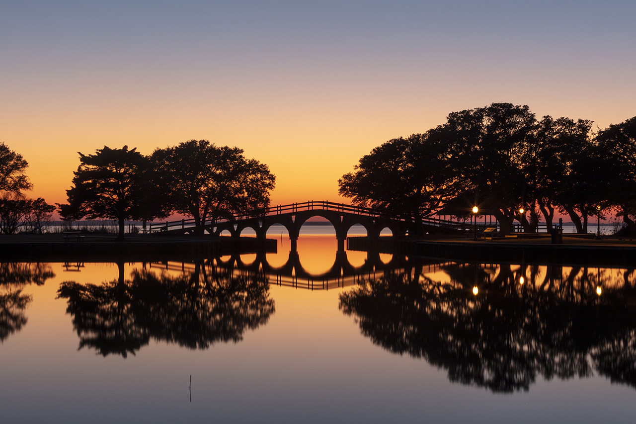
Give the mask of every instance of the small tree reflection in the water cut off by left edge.
[{"label": "small tree reflection in the water cut off by left edge", "polygon": [[31,303],[32,297],[22,293],[24,286],[40,286],[54,276],[48,264],[0,263],[0,342],[22,330],[27,323],[24,311]]}]

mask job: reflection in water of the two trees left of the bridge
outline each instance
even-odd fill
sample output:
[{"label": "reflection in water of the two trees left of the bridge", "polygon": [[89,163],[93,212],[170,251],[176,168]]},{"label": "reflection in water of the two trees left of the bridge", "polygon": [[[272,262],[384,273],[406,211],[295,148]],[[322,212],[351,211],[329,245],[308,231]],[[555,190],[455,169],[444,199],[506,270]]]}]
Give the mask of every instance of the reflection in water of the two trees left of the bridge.
[{"label": "reflection in water of the two trees left of the bridge", "polygon": [[274,312],[262,274],[197,264],[180,276],[137,270],[101,285],[67,281],[58,296],[68,299],[67,313],[80,339],[79,348],[124,358],[149,343],[177,343],[207,349],[217,342],[242,340],[247,329],[265,324]]}]

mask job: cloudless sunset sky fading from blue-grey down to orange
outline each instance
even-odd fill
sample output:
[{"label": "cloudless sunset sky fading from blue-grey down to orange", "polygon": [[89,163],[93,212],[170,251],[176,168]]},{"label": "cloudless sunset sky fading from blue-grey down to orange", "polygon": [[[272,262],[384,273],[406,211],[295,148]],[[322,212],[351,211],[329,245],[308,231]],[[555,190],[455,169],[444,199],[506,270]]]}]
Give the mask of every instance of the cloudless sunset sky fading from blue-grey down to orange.
[{"label": "cloudless sunset sky fading from blue-grey down to orange", "polygon": [[635,16],[633,0],[3,0],[0,141],[49,203],[77,152],[188,139],[268,164],[272,204],[340,201],[363,155],[451,111],[635,116]]}]

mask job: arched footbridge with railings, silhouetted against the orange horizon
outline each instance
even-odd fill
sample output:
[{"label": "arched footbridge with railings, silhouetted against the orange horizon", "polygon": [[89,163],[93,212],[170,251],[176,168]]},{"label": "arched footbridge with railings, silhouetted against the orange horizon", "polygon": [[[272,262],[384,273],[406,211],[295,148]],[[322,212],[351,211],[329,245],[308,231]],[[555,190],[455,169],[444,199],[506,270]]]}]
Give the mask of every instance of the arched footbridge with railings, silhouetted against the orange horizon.
[{"label": "arched footbridge with railings, silhouetted against the orange horizon", "polygon": [[[247,216],[250,214],[248,213]],[[391,217],[370,209],[350,204],[335,203],[329,201],[307,201],[302,203],[291,203],[286,205],[272,206],[261,212],[261,215],[244,218],[243,216],[233,216],[223,220],[205,220],[200,227],[195,227],[194,219],[183,219],[179,221],[169,221],[162,223],[150,223],[148,232],[163,234],[194,234],[195,231],[203,231],[204,234],[220,236],[221,232],[227,230],[230,236],[239,237],[241,232],[250,228],[256,232],[257,238],[265,238],[267,230],[272,225],[282,225],[289,233],[292,250],[296,250],[296,241],[300,234],[303,223],[310,218],[321,217],[328,220],[336,231],[338,239],[338,250],[344,249],[347,232],[356,224],[362,225],[366,229],[368,237],[380,237],[380,232],[385,228],[391,230],[394,236],[403,235],[413,231],[412,217]],[[464,222],[443,220],[440,218],[422,218],[425,231],[429,233],[448,232],[449,230],[467,230],[473,228],[472,225]]]}]

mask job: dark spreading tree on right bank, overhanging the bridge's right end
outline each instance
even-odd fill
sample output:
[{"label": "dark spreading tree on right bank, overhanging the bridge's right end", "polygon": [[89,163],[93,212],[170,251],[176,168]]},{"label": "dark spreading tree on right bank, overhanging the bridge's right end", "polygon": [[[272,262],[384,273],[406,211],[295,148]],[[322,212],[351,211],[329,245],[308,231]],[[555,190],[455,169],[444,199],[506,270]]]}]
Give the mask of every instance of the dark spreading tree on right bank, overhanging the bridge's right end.
[{"label": "dark spreading tree on right bank, overhanging the bridge's right end", "polygon": [[427,134],[392,139],[363,156],[354,172],[343,175],[339,192],[357,206],[420,224],[446,195],[444,159],[445,146]]}]

